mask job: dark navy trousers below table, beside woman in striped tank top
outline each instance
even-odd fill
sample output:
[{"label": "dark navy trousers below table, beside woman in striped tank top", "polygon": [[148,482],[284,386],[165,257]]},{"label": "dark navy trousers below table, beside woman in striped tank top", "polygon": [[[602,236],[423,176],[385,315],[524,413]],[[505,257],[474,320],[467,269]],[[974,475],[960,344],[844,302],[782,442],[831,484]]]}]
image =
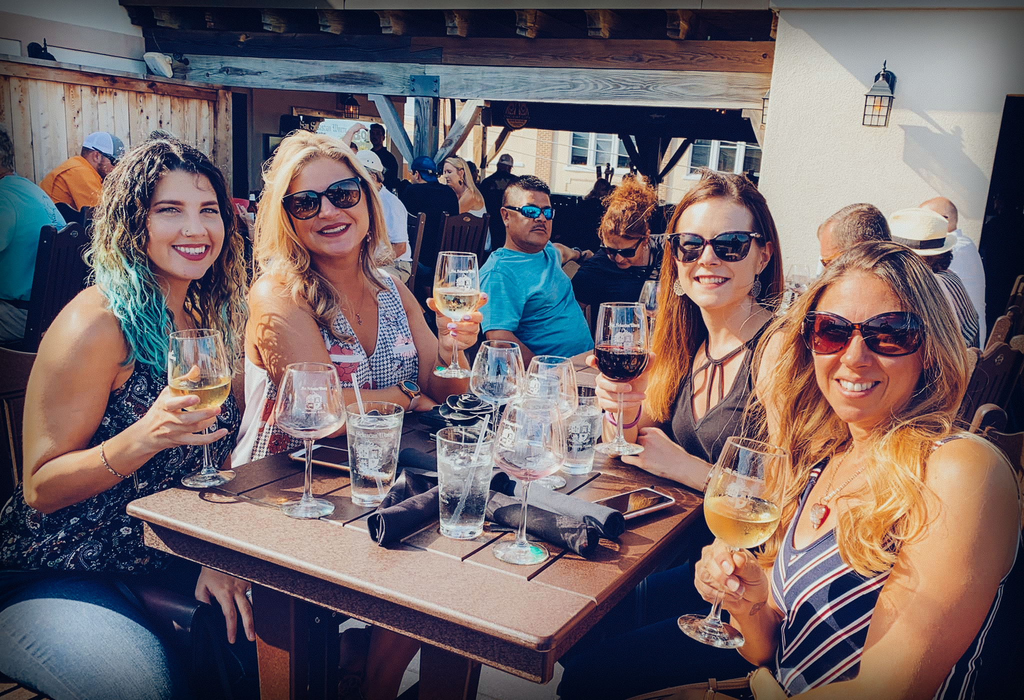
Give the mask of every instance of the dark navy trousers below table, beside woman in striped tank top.
[{"label": "dark navy trousers below table, beside woman in striped tank top", "polygon": [[625,700],[746,675],[754,666],[738,652],[701,644],[679,629],[680,615],[710,609],[693,587],[688,564],[651,574],[560,659],[559,697]]}]

